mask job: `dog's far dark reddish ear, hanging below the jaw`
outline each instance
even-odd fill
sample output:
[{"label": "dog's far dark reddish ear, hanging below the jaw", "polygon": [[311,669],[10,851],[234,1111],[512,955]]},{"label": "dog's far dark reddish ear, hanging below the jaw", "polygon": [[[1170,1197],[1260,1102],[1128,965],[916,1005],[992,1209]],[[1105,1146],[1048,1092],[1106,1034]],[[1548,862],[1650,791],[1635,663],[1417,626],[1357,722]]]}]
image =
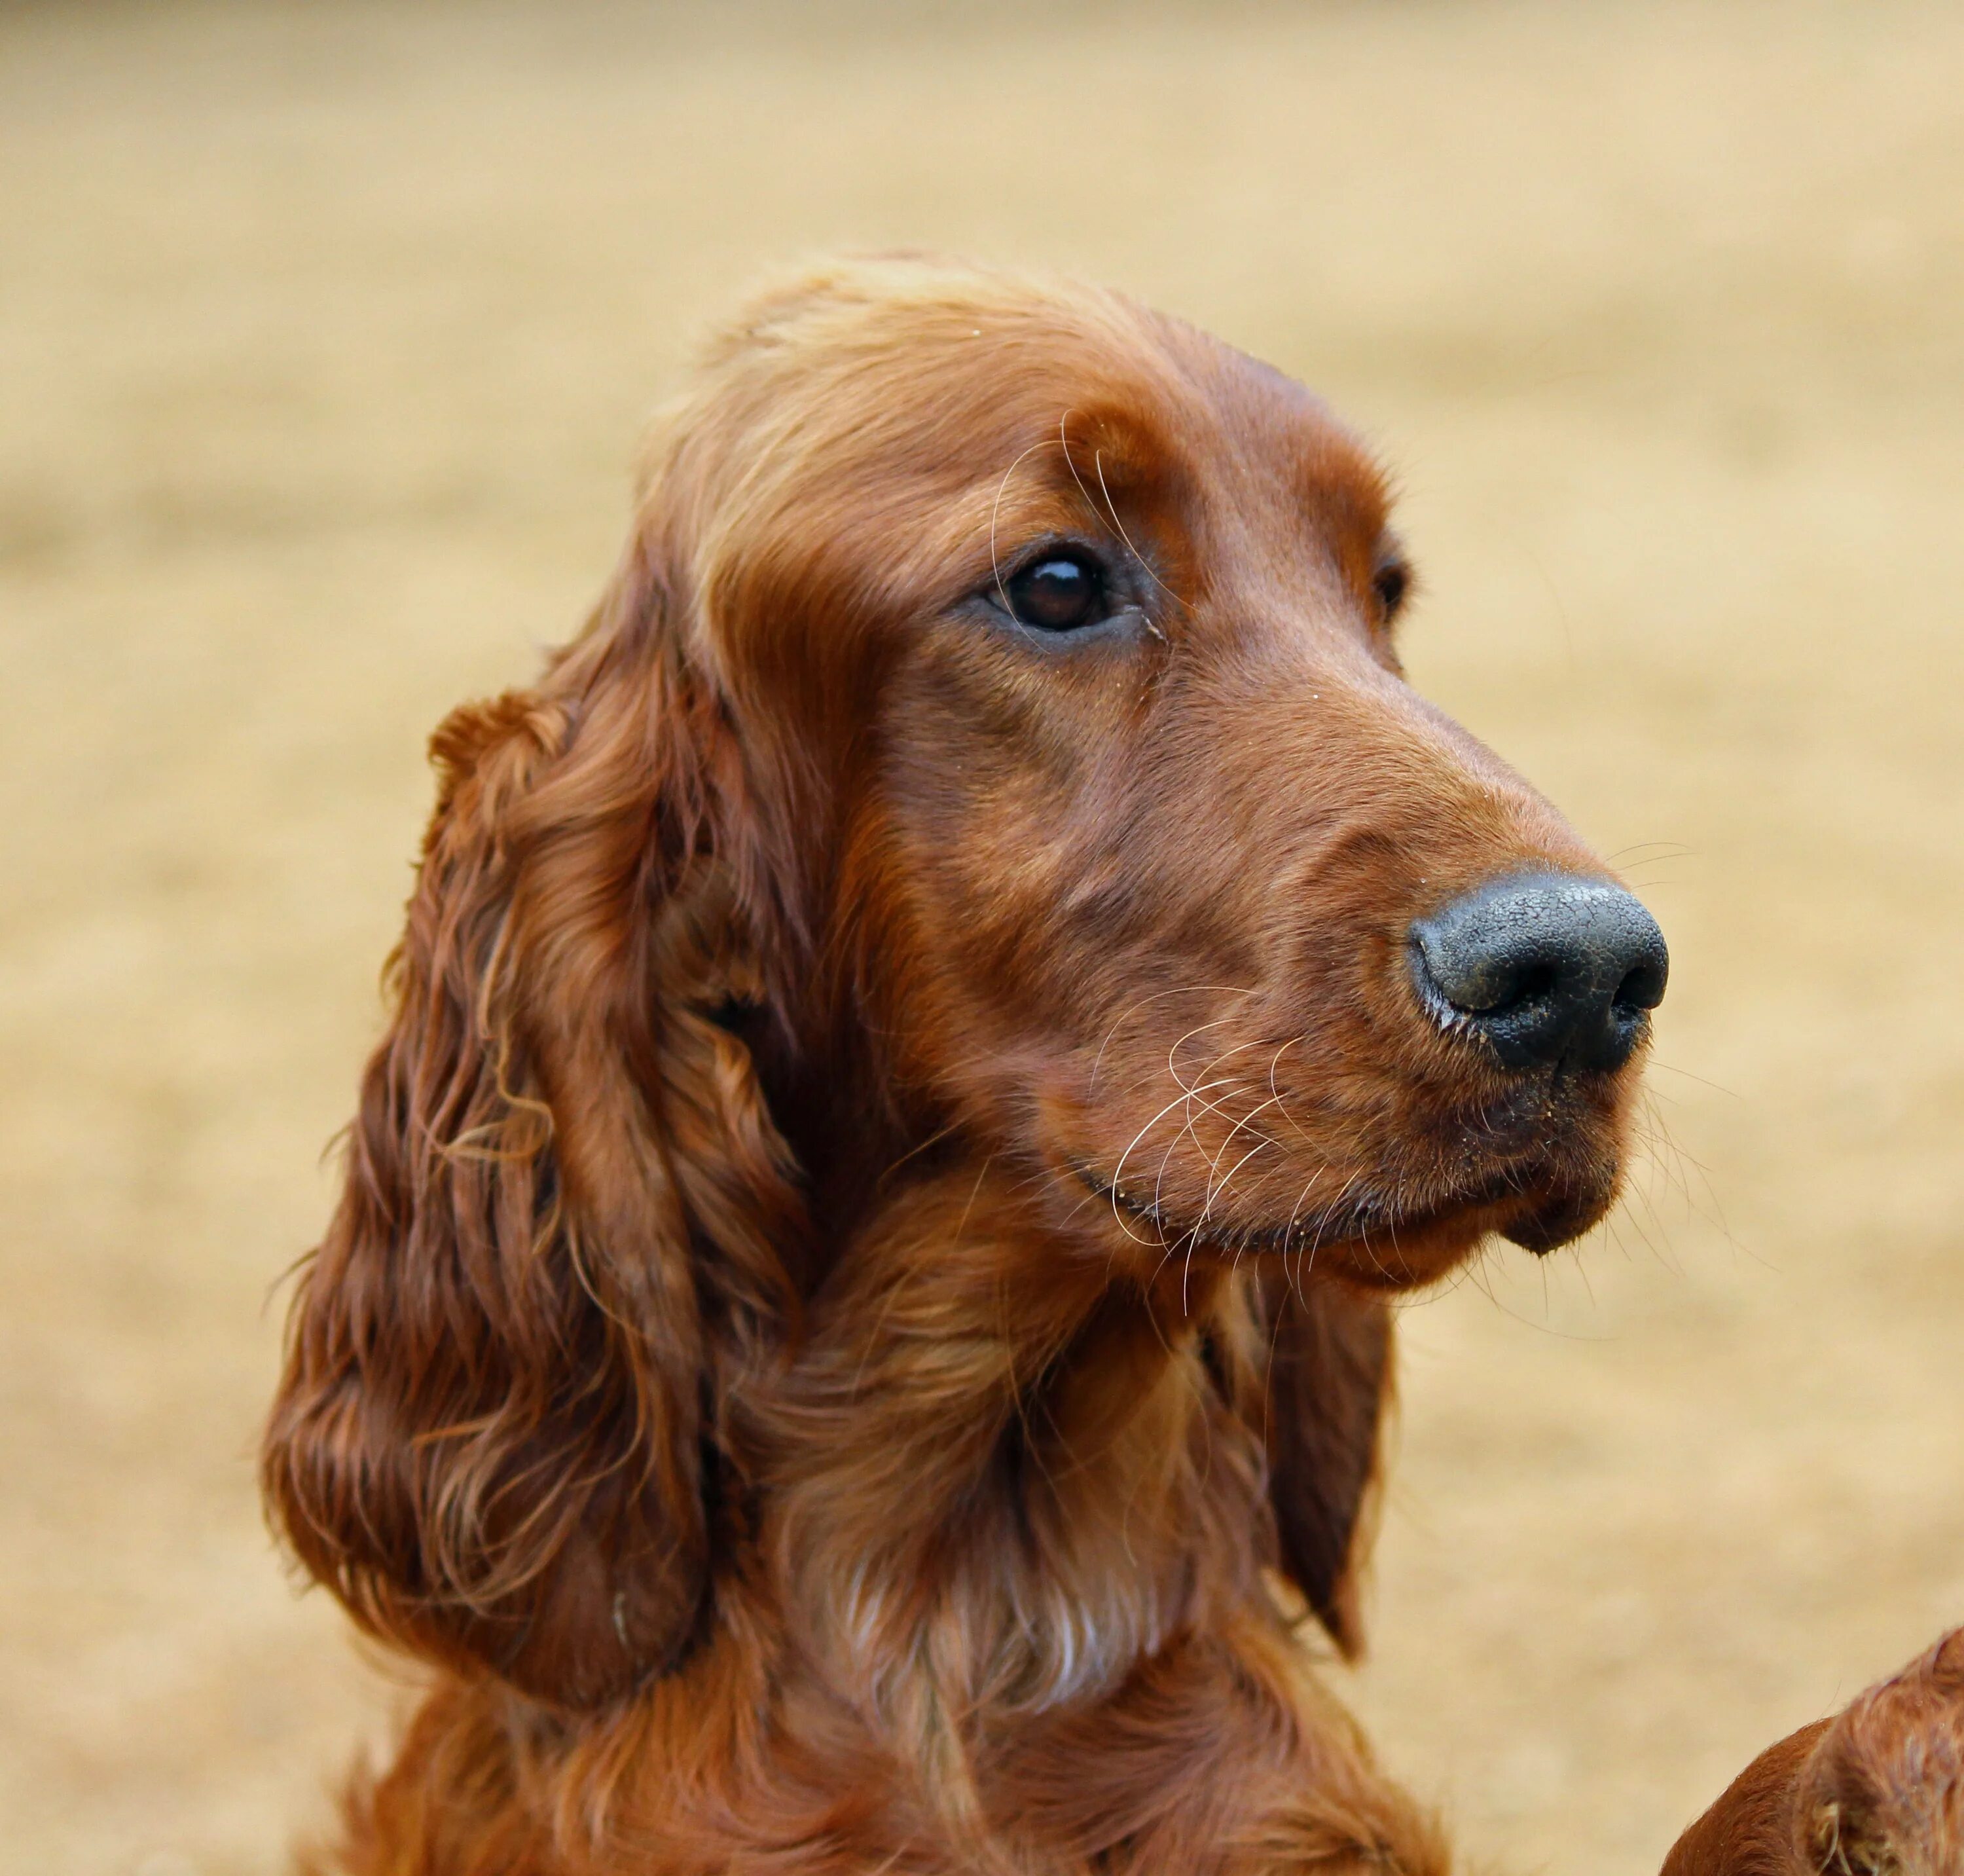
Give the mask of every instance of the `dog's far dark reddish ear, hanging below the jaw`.
[{"label": "dog's far dark reddish ear, hanging below the jaw", "polygon": [[1263,1269],[1269,1503],[1282,1570],[1345,1660],[1363,1650],[1357,1575],[1391,1401],[1391,1310],[1332,1281]]}]

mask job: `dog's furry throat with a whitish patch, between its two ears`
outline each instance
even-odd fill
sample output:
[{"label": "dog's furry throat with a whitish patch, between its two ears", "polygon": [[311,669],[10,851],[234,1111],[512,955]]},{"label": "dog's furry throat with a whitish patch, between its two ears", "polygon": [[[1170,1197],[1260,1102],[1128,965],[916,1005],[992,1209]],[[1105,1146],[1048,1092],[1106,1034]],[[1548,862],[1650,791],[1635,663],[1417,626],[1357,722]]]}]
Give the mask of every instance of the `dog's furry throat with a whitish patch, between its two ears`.
[{"label": "dog's furry throat with a whitish patch, between its two ears", "polygon": [[766,1414],[768,1542],[827,1678],[886,1727],[986,1729],[1251,1593],[1261,1458],[1208,1361],[1231,1300],[1218,1265],[1116,1279],[986,1165],[896,1196]]}]

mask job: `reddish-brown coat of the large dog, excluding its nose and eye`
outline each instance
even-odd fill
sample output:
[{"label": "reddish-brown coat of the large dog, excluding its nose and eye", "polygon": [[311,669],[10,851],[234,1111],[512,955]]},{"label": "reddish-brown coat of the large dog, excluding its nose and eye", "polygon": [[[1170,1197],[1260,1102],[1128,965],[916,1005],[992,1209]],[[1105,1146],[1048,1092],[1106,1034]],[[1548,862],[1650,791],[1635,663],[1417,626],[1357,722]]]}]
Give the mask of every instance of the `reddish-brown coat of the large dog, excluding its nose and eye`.
[{"label": "reddish-brown coat of the large dog, excluding its nose and eye", "polygon": [[[1059,534],[1123,633],[990,611]],[[269,1503],[440,1670],[342,1866],[1444,1868],[1296,1617],[1357,1646],[1383,1295],[1599,1216],[1634,1071],[1414,1004],[1414,917],[1601,868],[1400,682],[1389,552],[1112,295],[858,263],[711,352],[436,737],[295,1304]]]}]

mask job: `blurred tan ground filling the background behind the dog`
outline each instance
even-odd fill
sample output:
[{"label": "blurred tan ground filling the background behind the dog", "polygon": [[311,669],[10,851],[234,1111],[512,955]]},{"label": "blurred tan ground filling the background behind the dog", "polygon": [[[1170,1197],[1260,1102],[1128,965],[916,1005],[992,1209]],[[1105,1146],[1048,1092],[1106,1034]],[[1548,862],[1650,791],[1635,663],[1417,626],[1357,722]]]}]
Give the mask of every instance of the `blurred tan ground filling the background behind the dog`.
[{"label": "blurred tan ground filling the background behind the dog", "polygon": [[1642,1876],[1964,1621],[1960,96],[1891,0],[0,12],[0,1870],[273,1870],[379,1737],[249,1448],[422,739],[841,244],[1328,391],[1418,682],[1669,933],[1675,1147],[1406,1316],[1391,1764]]}]

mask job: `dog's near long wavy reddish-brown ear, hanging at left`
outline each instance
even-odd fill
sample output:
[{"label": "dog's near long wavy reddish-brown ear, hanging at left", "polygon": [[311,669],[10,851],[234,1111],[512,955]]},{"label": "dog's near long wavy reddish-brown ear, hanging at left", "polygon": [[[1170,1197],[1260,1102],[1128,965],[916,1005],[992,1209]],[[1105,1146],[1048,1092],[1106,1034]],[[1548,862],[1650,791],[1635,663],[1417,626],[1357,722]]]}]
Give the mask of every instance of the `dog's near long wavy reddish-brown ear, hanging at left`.
[{"label": "dog's near long wavy reddish-brown ear, hanging at left", "polygon": [[795,1306],[795,1169],[713,1021],[762,996],[758,862],[638,556],[536,691],[460,709],[432,758],[263,1487],[371,1632],[587,1707],[695,1634],[727,1393]]}]

